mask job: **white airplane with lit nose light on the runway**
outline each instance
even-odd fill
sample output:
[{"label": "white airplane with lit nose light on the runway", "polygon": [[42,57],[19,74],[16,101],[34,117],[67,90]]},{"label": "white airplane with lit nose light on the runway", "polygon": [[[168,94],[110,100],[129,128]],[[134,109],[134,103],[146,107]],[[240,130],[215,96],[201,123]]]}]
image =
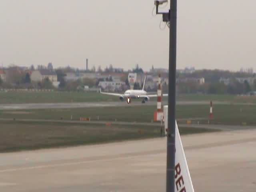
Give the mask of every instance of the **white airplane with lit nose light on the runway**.
[{"label": "white airplane with lit nose light on the runway", "polygon": [[[113,96],[118,96],[119,99],[122,101],[126,99],[127,103],[131,103],[131,99],[142,99],[142,103],[145,103],[146,101],[150,100],[150,97],[157,97],[157,94],[148,94],[144,89],[145,89],[145,84],[146,84],[146,78],[144,79],[143,87],[142,90],[126,90],[124,94],[118,94],[118,93],[107,93],[107,92],[101,92],[101,94],[105,95],[113,95]],[[168,94],[162,94],[162,96],[168,96]]]}]

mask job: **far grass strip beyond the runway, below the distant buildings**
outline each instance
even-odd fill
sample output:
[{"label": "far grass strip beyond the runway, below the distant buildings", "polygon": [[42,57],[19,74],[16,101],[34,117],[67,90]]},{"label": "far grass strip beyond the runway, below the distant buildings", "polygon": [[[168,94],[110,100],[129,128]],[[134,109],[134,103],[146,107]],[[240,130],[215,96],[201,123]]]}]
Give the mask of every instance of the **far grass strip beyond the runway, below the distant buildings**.
[{"label": "far grass strip beyond the runway, below the distant buildings", "polygon": [[[214,94],[181,94],[177,97],[178,101],[230,101],[230,102],[253,102],[256,97],[238,97],[234,95],[214,95]],[[155,101],[156,98],[150,99]],[[164,97],[167,100],[167,97]],[[60,103],[60,102],[104,102],[119,101],[116,96],[102,95],[92,92],[0,92],[0,104],[15,103]],[[136,101],[136,100],[134,100]],[[138,100],[139,101],[139,100]]]}]

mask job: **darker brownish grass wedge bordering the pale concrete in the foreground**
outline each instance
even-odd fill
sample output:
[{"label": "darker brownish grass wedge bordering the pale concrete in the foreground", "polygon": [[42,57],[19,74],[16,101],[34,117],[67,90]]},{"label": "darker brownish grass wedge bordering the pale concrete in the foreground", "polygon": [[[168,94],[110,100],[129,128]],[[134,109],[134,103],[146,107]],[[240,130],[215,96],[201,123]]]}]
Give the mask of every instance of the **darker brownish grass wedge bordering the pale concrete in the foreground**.
[{"label": "darker brownish grass wedge bordering the pale concrete in the foreground", "polygon": [[[0,123],[0,152],[160,137],[160,126],[74,125],[46,122]],[[216,131],[186,127],[179,129],[180,134]]]}]

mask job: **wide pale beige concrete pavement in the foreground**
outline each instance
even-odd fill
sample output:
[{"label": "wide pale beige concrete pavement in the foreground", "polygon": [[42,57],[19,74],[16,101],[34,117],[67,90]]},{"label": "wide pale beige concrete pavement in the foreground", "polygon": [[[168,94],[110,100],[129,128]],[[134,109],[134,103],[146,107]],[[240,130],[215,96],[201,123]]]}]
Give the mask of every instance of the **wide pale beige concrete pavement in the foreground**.
[{"label": "wide pale beige concrete pavement in the foreground", "polygon": [[[255,192],[256,130],[183,136],[196,192]],[[0,154],[3,192],[165,191],[166,138]]]}]

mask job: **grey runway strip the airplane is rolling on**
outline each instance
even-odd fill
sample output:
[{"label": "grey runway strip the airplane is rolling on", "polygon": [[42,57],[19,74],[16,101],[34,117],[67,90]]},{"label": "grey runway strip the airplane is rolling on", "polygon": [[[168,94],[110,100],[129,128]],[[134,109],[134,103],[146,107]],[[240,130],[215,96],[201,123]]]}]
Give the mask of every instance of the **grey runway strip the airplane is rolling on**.
[{"label": "grey runway strip the airplane is rolling on", "polygon": [[[168,102],[164,101],[164,105]],[[177,105],[200,105],[210,104],[209,101],[177,101]],[[214,104],[230,104],[230,102],[214,101]],[[237,105],[255,105],[251,103],[234,103]],[[145,104],[141,102],[82,102],[82,103],[28,103],[28,104],[0,104],[0,110],[18,110],[18,109],[48,109],[48,108],[90,108],[90,107],[113,107],[113,106],[141,106],[156,105],[155,101],[149,101]]]}]

